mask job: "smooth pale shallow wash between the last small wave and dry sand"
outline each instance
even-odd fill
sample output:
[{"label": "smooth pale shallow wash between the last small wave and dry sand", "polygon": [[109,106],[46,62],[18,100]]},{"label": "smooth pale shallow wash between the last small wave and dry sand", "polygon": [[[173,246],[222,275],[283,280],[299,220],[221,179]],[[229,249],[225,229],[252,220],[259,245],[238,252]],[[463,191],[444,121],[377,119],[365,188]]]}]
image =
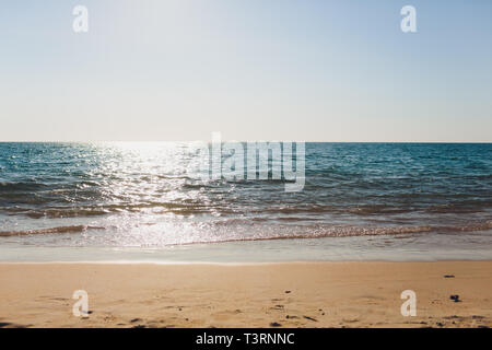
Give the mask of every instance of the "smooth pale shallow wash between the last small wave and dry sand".
[{"label": "smooth pale shallow wash between the last small wave and dry sand", "polygon": [[[57,238],[58,240],[58,238]],[[67,236],[67,240],[71,237]],[[0,240],[1,241],[1,240]],[[27,241],[25,241],[27,242]],[[0,244],[1,262],[255,264],[320,261],[492,260],[492,231],[473,235],[326,237],[194,244],[173,247]],[[28,243],[28,242],[27,242]]]}]

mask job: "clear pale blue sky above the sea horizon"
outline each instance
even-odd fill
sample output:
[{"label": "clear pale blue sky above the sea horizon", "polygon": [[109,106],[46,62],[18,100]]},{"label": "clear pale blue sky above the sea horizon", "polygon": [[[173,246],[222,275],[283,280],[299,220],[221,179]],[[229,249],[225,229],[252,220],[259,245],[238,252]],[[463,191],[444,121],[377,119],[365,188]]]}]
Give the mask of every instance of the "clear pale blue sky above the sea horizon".
[{"label": "clear pale blue sky above the sea horizon", "polygon": [[490,0],[2,0],[0,141],[492,142],[491,43]]}]

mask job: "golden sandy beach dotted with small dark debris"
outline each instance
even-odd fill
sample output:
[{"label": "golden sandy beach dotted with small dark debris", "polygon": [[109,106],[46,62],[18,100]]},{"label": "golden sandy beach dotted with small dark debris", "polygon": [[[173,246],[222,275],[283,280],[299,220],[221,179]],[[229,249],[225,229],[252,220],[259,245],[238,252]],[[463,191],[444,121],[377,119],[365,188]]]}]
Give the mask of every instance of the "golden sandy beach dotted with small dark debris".
[{"label": "golden sandy beach dotted with small dark debris", "polygon": [[[1,327],[492,326],[492,261],[1,264],[0,285]],[[72,314],[75,290],[87,318]]]}]

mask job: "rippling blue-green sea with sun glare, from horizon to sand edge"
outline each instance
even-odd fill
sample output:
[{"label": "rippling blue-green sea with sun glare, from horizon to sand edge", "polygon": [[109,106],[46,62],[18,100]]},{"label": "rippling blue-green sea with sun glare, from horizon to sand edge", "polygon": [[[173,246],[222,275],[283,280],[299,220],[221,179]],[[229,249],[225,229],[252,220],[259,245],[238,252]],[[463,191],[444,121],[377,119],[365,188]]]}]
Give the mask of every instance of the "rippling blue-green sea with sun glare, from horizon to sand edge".
[{"label": "rippling blue-green sea with sun glare, from horizon to sand edge", "polygon": [[0,260],[492,258],[492,144],[306,143],[305,185],[192,143],[0,143]]}]

